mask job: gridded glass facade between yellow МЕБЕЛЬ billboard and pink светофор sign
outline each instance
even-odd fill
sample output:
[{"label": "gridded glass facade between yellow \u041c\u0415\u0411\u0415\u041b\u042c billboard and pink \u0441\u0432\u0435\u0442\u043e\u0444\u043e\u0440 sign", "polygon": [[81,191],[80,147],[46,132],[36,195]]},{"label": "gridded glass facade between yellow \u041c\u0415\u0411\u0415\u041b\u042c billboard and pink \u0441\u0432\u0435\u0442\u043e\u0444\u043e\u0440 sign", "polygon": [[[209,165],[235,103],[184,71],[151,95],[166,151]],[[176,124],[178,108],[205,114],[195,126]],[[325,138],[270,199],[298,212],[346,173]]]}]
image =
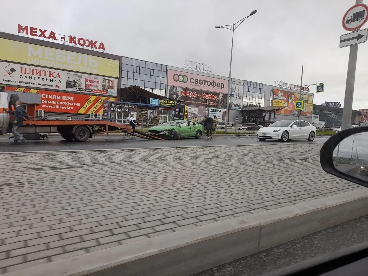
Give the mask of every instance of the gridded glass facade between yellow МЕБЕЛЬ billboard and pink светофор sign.
[{"label": "gridded glass facade between yellow \u041c\u0415\u0411\u0415\u041b\u042c billboard and pink \u0441\u0432\u0435\u0442\u043e\u0444\u043e\u0440 sign", "polygon": [[135,85],[151,93],[165,96],[166,72],[166,65],[123,57],[121,88]]}]

